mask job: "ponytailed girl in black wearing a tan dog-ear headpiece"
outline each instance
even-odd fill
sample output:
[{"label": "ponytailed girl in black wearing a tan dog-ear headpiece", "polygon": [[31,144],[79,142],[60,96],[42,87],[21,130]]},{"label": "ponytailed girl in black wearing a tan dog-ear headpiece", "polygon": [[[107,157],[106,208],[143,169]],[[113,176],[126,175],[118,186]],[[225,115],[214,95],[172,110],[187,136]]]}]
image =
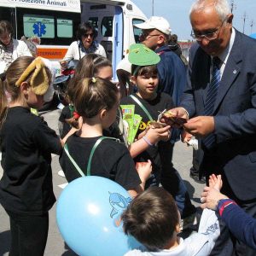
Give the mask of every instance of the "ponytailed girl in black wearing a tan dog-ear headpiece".
[{"label": "ponytailed girl in black wearing a tan dog-ear headpiece", "polygon": [[50,154],[60,154],[61,141],[30,108],[43,106],[50,79],[41,58],[20,57],[0,80],[0,202],[10,219],[9,255],[44,255],[55,203]]}]

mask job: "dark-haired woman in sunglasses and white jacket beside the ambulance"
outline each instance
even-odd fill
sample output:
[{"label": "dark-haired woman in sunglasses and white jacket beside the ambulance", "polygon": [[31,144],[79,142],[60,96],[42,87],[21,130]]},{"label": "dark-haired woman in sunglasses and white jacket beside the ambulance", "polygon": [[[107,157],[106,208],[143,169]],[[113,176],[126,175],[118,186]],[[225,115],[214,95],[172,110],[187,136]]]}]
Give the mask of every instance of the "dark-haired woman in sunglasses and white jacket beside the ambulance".
[{"label": "dark-haired woman in sunglasses and white jacket beside the ambulance", "polygon": [[90,21],[79,24],[77,41],[74,41],[67,49],[67,53],[61,61],[61,67],[67,66],[71,60],[81,60],[84,55],[95,53],[107,57],[102,44],[96,41],[97,31]]}]

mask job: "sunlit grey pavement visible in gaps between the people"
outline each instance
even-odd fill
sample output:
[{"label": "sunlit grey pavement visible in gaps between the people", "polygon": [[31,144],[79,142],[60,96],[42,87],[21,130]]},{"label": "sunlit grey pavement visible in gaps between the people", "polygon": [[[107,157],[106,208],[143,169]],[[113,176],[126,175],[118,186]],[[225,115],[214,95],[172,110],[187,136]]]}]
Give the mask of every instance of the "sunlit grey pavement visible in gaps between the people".
[{"label": "sunlit grey pavement visible in gaps between the people", "polygon": [[[44,113],[44,119],[48,122],[48,125],[58,132],[58,117],[60,115],[60,110],[53,110]],[[1,153],[0,153],[1,157]],[[204,188],[204,184],[195,183],[192,178],[189,177],[189,169],[192,163],[192,148],[186,146],[184,143],[176,143],[173,153],[173,164],[177,171],[183,177],[183,181],[187,186],[189,195],[192,203],[195,207],[200,205],[201,191]],[[52,154],[52,171],[53,171],[53,183],[55,196],[58,197],[61,194],[62,189],[67,184],[65,177],[58,175],[61,171],[61,166],[59,165],[59,157]],[[0,178],[3,175],[3,170],[0,167]],[[73,256],[76,255],[71,250],[67,248],[61,234],[57,228],[55,221],[55,207],[49,211],[49,236],[45,249],[45,256]],[[10,231],[9,231],[9,218],[3,207],[0,205],[0,255],[7,256],[9,254],[10,245]]]}]

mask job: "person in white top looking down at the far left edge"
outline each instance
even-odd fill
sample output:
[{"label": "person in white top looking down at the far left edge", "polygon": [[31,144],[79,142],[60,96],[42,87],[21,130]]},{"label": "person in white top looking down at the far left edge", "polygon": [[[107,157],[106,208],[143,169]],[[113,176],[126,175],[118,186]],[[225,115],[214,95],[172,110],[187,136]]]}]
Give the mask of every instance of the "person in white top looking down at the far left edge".
[{"label": "person in white top looking down at the far left edge", "polygon": [[23,41],[13,38],[14,30],[8,20],[0,21],[0,73],[20,56],[32,56]]}]

